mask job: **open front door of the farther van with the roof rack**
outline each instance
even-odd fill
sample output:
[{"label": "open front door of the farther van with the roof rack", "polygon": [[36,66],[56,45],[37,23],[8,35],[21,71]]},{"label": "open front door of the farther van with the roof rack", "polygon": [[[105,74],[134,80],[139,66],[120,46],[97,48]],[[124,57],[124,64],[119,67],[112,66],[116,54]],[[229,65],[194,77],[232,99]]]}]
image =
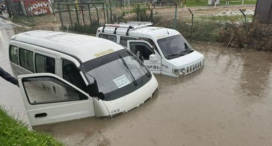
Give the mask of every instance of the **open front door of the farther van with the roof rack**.
[{"label": "open front door of the farther van with the roof rack", "polygon": [[161,56],[148,41],[128,40],[128,49],[139,57],[152,73],[160,74]]}]

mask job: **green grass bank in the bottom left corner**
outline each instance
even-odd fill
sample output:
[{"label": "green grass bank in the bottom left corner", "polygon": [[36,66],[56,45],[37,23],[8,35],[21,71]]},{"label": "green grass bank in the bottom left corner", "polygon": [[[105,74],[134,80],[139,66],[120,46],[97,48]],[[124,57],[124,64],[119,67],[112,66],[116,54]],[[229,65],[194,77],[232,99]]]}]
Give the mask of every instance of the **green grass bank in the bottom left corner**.
[{"label": "green grass bank in the bottom left corner", "polygon": [[0,107],[0,145],[63,145],[52,136],[29,131],[19,120]]}]

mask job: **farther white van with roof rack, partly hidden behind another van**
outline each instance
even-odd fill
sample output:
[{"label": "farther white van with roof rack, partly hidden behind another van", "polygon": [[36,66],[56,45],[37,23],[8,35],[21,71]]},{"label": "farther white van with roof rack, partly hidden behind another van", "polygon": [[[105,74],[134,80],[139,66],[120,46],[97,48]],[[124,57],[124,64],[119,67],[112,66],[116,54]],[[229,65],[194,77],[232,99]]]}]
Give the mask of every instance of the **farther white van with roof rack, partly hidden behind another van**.
[{"label": "farther white van with roof rack, partly hidden behind another van", "polygon": [[204,66],[204,55],[193,50],[178,31],[151,26],[149,22],[106,24],[96,36],[127,47],[152,73],[178,77]]}]

